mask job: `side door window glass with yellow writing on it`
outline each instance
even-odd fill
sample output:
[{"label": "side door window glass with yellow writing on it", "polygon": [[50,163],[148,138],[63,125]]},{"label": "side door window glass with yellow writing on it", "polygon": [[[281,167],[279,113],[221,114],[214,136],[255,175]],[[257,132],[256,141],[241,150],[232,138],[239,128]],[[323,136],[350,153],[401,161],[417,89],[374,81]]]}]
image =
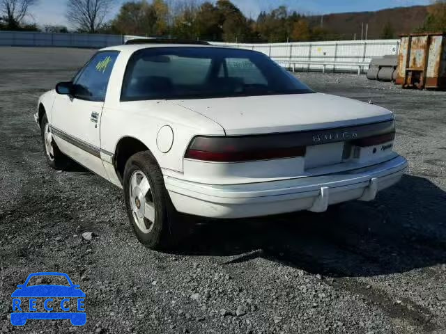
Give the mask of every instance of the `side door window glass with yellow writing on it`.
[{"label": "side door window glass with yellow writing on it", "polygon": [[104,101],[117,51],[99,52],[75,77],[74,95],[82,100]]}]

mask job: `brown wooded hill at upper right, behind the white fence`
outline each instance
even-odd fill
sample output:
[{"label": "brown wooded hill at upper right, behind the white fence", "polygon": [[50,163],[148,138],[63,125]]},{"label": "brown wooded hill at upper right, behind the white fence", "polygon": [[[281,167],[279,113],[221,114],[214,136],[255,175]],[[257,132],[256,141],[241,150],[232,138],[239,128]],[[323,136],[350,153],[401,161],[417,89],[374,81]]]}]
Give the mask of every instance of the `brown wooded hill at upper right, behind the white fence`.
[{"label": "brown wooded hill at upper right, behind the white fence", "polygon": [[[360,13],[339,13],[323,15],[323,29],[333,35],[341,35],[346,39],[361,39],[361,24],[369,24],[368,39],[378,39],[383,34],[383,29],[387,24],[390,26],[394,37],[401,33],[411,33],[422,26],[427,16],[426,6],[398,7],[376,12]],[[321,25],[321,15],[307,17],[310,26]]]}]

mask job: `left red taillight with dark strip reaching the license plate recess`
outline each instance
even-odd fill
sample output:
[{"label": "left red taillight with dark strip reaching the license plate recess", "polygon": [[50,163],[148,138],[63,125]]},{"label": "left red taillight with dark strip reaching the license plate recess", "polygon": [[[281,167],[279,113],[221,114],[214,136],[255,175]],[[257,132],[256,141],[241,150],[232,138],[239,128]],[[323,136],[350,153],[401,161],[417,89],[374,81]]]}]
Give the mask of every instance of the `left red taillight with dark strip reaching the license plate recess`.
[{"label": "left red taillight with dark strip reaching the license plate recess", "polygon": [[[261,145],[261,147],[259,147]],[[253,137],[195,137],[187,149],[185,158],[201,161],[238,162],[283,159],[305,156],[305,146],[280,148],[275,141],[265,143]]]}]

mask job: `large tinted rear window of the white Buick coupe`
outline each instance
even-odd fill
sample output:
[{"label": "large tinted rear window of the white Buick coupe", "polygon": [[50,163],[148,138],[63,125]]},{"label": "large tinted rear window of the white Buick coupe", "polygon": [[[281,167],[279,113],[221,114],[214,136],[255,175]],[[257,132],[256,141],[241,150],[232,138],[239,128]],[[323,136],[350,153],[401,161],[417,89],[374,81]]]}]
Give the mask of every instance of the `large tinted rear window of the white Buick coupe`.
[{"label": "large tinted rear window of the white Buick coupe", "polygon": [[157,47],[132,55],[121,101],[302,93],[313,91],[259,52]]}]

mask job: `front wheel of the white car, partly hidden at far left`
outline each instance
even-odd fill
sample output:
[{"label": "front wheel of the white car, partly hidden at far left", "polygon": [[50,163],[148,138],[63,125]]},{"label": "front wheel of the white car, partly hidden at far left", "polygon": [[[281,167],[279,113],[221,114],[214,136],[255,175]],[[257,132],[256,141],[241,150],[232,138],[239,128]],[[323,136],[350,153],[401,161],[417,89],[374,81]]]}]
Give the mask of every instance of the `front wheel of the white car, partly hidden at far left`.
[{"label": "front wheel of the white car, partly hidden at far left", "polygon": [[59,150],[57,144],[54,142],[46,114],[44,114],[42,120],[40,120],[40,137],[42,139],[43,152],[49,167],[56,170],[65,169],[68,166],[70,159]]}]

